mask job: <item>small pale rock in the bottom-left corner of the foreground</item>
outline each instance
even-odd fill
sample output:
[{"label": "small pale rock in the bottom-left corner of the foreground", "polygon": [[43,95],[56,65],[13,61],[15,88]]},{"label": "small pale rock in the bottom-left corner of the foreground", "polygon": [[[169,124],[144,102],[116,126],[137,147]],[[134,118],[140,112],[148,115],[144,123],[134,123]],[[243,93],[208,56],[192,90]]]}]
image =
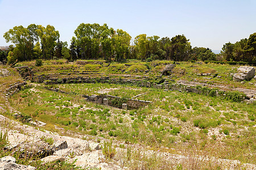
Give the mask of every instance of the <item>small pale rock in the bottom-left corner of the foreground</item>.
[{"label": "small pale rock in the bottom-left corner of the foreground", "polygon": [[0,159],[0,170],[34,170],[35,167],[31,167],[30,165],[20,165],[16,164],[16,159],[12,156],[5,156]]}]

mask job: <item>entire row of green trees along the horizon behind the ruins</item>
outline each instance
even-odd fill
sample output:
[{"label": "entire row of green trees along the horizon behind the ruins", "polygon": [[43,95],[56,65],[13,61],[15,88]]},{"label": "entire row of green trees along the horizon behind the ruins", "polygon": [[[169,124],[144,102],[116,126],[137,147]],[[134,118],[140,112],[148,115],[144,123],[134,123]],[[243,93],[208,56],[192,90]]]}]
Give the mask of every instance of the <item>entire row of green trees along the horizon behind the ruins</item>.
[{"label": "entire row of green trees along the horizon behind the ruins", "polygon": [[[192,48],[184,35],[172,37],[147,37],[138,35],[132,41],[129,33],[122,29],[114,30],[107,24],[80,24],[72,37],[71,45],[59,40],[59,31],[52,25],[31,24],[27,28],[22,25],[7,31],[3,37],[6,42],[13,42],[7,56],[12,63],[30,59],[66,58],[99,59],[122,61],[123,59],[168,59],[173,61],[216,60],[216,54],[209,48]],[[256,33],[249,39],[235,44],[226,43],[222,48],[220,59],[226,61],[255,61]]]}]

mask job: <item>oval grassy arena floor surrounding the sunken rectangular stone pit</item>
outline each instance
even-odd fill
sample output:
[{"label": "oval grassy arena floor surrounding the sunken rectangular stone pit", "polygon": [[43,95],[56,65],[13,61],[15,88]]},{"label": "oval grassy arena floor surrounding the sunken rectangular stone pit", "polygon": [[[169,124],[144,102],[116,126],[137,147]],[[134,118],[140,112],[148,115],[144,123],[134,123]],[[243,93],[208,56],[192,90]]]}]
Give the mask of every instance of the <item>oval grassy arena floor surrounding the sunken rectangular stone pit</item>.
[{"label": "oval grassy arena floor surrounding the sunken rectangular stone pit", "polygon": [[91,95],[102,90],[118,96],[127,96],[130,91],[133,95],[146,92],[139,99],[153,103],[124,111],[88,103],[79,95],[48,91],[40,85],[14,95],[10,103],[21,113],[46,122],[48,130],[54,130],[51,128],[56,125],[81,134],[175,153],[180,153],[181,148],[189,150],[196,143],[201,151],[209,150],[218,158],[255,163],[255,104],[109,84],[62,84],[59,88]]}]

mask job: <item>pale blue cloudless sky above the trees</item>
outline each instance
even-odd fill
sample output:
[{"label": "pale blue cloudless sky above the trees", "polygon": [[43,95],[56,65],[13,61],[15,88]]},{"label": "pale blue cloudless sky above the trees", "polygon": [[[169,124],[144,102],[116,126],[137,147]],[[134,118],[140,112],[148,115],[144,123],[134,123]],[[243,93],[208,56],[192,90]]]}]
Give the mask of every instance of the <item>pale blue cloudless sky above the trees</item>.
[{"label": "pale blue cloudless sky above the trees", "polygon": [[8,45],[3,33],[15,25],[51,24],[70,44],[80,23],[106,23],[133,39],[184,34],[193,47],[221,50],[256,32],[255,9],[256,0],[0,0],[0,46]]}]

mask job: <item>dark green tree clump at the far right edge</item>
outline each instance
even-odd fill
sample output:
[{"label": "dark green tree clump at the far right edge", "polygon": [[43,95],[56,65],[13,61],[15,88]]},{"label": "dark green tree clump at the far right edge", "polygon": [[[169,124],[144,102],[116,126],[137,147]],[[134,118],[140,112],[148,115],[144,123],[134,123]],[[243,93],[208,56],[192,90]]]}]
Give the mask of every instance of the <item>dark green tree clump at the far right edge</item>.
[{"label": "dark green tree clump at the far right edge", "polygon": [[256,62],[256,32],[249,39],[224,44],[221,56],[226,61]]}]

